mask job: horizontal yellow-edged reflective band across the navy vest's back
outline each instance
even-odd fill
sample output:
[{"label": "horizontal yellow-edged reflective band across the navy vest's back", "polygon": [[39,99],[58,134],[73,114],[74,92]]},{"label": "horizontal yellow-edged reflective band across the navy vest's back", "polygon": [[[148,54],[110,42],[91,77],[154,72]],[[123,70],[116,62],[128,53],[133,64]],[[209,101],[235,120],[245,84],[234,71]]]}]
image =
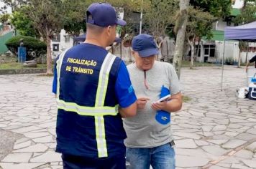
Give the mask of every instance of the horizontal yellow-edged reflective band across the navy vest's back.
[{"label": "horizontal yellow-edged reflective band across the navy vest's back", "polygon": [[65,102],[63,100],[57,99],[58,109],[63,109],[65,111],[77,112],[78,115],[117,115],[118,105],[115,107],[101,106],[101,107],[86,107],[77,105],[74,102]]}]

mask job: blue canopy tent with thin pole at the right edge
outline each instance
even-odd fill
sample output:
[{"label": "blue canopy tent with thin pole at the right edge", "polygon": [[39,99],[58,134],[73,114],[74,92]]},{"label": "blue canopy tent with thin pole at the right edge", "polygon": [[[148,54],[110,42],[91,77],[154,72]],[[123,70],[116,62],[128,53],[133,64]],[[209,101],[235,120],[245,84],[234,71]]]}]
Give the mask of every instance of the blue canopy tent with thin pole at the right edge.
[{"label": "blue canopy tent with thin pole at the right edge", "polygon": [[240,26],[227,27],[224,30],[224,49],[222,56],[222,74],[221,74],[221,91],[223,86],[223,72],[224,72],[224,54],[225,54],[225,42],[227,40],[237,40],[237,41],[256,41],[256,21],[249,24],[244,24]]}]

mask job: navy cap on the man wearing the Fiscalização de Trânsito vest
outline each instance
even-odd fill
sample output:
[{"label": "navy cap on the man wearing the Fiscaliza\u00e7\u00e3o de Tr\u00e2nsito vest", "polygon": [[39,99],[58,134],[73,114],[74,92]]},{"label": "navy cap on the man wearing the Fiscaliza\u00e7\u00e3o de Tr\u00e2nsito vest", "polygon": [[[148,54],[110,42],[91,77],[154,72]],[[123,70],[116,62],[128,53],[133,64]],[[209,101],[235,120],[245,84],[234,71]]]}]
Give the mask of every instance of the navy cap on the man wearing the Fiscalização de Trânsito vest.
[{"label": "navy cap on the man wearing the Fiscaliza\u00e7\u00e3o de Tr\u00e2nsito vest", "polygon": [[127,24],[126,21],[117,18],[114,7],[107,3],[91,4],[86,11],[86,22],[101,27]]}]

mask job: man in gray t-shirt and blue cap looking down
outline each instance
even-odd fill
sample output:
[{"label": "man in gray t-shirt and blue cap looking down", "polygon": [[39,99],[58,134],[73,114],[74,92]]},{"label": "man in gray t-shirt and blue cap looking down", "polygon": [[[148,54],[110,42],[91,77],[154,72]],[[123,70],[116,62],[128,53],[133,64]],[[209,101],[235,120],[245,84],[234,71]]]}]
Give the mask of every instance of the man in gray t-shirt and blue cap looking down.
[{"label": "man in gray t-shirt and blue cap looking down", "polygon": [[[124,119],[127,139],[127,168],[175,168],[175,152],[170,112],[180,110],[182,95],[173,66],[155,60],[157,46],[152,36],[140,34],[132,39],[135,62],[127,69],[137,95],[137,115]],[[166,95],[168,100],[156,102]]]}]

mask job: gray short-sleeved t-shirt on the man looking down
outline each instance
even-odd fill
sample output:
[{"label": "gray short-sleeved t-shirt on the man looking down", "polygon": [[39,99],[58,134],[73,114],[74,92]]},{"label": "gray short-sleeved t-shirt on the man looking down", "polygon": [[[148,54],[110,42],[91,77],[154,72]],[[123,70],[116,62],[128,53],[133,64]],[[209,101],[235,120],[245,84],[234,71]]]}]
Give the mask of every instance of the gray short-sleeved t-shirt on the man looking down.
[{"label": "gray short-sleeved t-shirt on the man looking down", "polygon": [[161,125],[155,120],[156,111],[152,110],[151,103],[160,98],[161,87],[168,87],[172,95],[180,92],[178,76],[173,66],[166,62],[155,61],[152,69],[146,71],[146,80],[149,89],[144,84],[144,71],[138,69],[136,64],[129,64],[132,86],[137,98],[150,97],[145,109],[137,110],[134,117],[125,118],[124,129],[127,139],[124,144],[128,148],[154,148],[173,140],[170,122]]}]

